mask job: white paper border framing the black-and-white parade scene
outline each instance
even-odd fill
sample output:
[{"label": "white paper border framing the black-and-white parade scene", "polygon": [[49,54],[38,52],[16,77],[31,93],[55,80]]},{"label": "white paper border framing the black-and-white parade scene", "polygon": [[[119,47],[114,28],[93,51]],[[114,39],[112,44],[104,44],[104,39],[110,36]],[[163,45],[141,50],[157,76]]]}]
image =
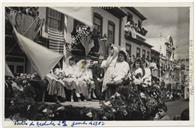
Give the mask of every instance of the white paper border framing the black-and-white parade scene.
[{"label": "white paper border framing the black-and-white parade scene", "polygon": [[[14,126],[12,121],[4,120],[4,67],[5,67],[5,7],[7,6],[39,6],[39,7],[47,7],[47,6],[56,6],[56,7],[102,7],[102,6],[133,6],[133,7],[189,7],[190,8],[190,29],[189,29],[189,60],[190,60],[190,83],[189,88],[191,90],[189,106],[190,106],[190,120],[189,121],[104,121],[104,127],[162,127],[162,126],[171,126],[171,127],[190,127],[194,126],[194,3],[193,2],[86,2],[86,3],[69,3],[69,2],[3,2],[2,3],[2,32],[1,32],[1,104],[2,104],[2,122],[4,127],[20,127]],[[71,123],[71,122],[70,122]],[[21,126],[24,127],[24,126]]]}]

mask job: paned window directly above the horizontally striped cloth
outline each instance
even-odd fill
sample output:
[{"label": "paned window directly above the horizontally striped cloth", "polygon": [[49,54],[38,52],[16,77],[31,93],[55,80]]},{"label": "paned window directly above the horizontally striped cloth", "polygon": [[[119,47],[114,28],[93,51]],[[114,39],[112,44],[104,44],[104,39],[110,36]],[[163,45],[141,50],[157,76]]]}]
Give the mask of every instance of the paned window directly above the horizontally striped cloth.
[{"label": "paned window directly above the horizontally striped cloth", "polygon": [[63,30],[63,14],[47,8],[47,26],[56,30]]}]

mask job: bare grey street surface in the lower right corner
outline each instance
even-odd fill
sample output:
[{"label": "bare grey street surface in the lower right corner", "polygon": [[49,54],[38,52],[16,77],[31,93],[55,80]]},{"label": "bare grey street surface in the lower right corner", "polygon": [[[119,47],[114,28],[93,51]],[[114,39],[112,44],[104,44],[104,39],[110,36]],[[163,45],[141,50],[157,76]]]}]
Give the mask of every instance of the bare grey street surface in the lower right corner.
[{"label": "bare grey street surface in the lower right corner", "polygon": [[167,102],[167,113],[171,117],[171,119],[175,115],[181,115],[182,111],[186,108],[189,108],[189,101],[185,101],[183,99]]}]

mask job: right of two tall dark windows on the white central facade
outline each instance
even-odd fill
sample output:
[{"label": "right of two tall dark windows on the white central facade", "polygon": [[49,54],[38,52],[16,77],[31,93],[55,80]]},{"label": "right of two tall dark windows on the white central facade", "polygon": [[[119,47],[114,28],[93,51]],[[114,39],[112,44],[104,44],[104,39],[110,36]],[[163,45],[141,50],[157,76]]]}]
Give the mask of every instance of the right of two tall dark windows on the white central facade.
[{"label": "right of two tall dark windows on the white central facade", "polygon": [[109,43],[114,44],[114,32],[115,32],[115,24],[111,21],[108,21],[108,41]]}]

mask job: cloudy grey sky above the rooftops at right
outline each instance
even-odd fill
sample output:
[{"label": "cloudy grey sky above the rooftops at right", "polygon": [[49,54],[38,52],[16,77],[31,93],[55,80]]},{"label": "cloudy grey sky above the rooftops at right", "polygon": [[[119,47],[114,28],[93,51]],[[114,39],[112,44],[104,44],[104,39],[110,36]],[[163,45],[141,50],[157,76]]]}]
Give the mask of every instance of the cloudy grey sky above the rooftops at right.
[{"label": "cloudy grey sky above the rooftops at right", "polygon": [[147,19],[143,27],[148,30],[147,42],[155,50],[163,47],[169,36],[173,37],[175,58],[189,57],[189,8],[187,7],[137,7]]}]

